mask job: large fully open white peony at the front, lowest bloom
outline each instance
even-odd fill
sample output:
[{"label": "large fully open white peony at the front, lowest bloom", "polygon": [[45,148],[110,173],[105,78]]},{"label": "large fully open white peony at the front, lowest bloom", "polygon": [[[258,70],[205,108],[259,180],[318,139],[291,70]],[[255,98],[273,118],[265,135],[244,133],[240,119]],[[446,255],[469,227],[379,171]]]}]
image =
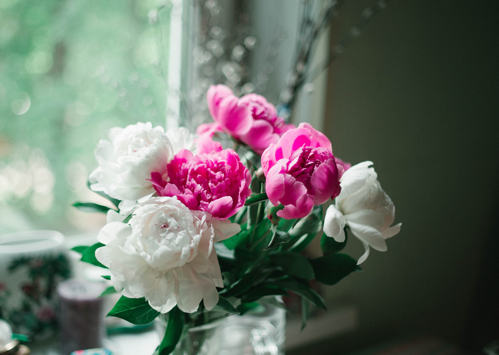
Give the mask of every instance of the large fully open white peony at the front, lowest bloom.
[{"label": "large fully open white peony at the front, lowest bloom", "polygon": [[177,197],[153,197],[137,205],[130,224],[111,222],[97,239],[95,256],[111,271],[115,289],[145,297],[161,313],[208,310],[224,287],[213,243],[239,233],[241,226],[208,212],[190,211]]}]

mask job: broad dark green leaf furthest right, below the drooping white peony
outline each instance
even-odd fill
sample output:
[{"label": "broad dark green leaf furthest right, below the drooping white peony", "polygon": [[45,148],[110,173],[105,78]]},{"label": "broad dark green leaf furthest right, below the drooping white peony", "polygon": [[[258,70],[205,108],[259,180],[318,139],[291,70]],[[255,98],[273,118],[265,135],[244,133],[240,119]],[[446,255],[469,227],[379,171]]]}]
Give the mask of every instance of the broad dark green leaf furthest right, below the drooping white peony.
[{"label": "broad dark green leaf furthest right, below the drooping white peony", "polygon": [[309,261],[315,280],[325,285],[334,285],[351,272],[362,270],[357,266],[357,261],[346,254],[329,254]]}]

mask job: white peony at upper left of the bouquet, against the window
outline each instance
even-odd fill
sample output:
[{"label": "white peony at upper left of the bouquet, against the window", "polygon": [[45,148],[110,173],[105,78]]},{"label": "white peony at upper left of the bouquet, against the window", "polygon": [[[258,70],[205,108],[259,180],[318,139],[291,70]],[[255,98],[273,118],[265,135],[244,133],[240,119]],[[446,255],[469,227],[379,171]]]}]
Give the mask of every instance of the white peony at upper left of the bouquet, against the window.
[{"label": "white peony at upper left of the bouquet, against the window", "polygon": [[137,200],[155,192],[151,173],[166,177],[167,164],[182,148],[195,150],[196,136],[185,127],[171,129],[152,127],[151,122],[115,127],[109,139],[102,139],[95,149],[99,167],[89,176],[91,189],[103,191],[121,200],[120,213],[128,216]]}]

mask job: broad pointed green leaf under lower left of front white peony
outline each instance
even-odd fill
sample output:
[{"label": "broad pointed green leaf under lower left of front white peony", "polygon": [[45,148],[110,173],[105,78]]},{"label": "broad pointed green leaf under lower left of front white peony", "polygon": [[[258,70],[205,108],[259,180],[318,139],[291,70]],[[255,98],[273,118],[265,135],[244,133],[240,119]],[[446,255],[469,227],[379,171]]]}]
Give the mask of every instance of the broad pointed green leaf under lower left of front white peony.
[{"label": "broad pointed green leaf under lower left of front white peony", "polygon": [[109,311],[107,317],[118,317],[136,325],[149,324],[159,312],[149,306],[147,300],[142,298],[128,298],[121,296],[113,309]]}]

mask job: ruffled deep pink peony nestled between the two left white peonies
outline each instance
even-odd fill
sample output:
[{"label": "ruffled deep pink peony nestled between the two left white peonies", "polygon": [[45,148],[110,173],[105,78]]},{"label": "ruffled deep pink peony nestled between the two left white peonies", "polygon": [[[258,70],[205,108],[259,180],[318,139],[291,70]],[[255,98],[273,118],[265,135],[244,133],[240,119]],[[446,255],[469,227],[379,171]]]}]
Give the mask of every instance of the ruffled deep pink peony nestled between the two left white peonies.
[{"label": "ruffled deep pink peony nestled between the two left white peonies", "polygon": [[167,165],[169,181],[151,174],[158,196],[177,196],[190,210],[206,211],[218,219],[236,214],[251,195],[251,177],[232,149],[214,145],[211,153],[194,155],[182,149]]}]

